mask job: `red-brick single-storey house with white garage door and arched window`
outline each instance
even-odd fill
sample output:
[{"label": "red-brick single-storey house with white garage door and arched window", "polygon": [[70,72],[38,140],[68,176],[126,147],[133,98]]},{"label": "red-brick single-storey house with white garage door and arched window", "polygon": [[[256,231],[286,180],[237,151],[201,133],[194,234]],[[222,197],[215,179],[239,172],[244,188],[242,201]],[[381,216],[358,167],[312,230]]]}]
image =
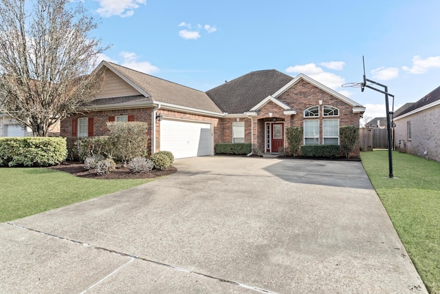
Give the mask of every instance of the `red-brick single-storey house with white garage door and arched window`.
[{"label": "red-brick single-storey house with white garage door and arched window", "polygon": [[[216,143],[252,143],[267,153],[287,147],[287,127],[303,144],[339,144],[339,127],[359,127],[365,107],[314,81],[276,70],[250,72],[207,92],[102,61],[105,84],[91,103],[61,122],[61,136],[105,136],[107,121],[148,123],[151,153],[176,158],[214,154]],[[359,146],[354,151],[359,156]]]}]

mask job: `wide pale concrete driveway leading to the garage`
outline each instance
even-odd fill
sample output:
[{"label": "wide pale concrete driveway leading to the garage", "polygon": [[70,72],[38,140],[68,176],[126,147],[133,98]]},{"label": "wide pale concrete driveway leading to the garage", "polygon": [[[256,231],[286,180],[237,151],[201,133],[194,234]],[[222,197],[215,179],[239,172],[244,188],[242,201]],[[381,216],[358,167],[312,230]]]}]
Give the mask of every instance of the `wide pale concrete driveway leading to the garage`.
[{"label": "wide pale concrete driveway leading to the garage", "polygon": [[360,162],[175,167],[0,224],[0,292],[427,293]]}]

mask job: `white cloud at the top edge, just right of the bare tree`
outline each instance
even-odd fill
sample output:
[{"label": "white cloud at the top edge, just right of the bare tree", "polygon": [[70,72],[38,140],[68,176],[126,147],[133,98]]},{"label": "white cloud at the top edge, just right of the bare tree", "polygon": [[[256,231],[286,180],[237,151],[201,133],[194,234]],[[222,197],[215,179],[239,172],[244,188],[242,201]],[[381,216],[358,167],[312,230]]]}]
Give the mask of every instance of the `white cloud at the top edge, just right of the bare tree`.
[{"label": "white cloud at the top edge, just right of the bare tree", "polygon": [[100,8],[96,10],[102,17],[118,15],[120,17],[131,17],[134,10],[145,5],[146,0],[96,0]]}]

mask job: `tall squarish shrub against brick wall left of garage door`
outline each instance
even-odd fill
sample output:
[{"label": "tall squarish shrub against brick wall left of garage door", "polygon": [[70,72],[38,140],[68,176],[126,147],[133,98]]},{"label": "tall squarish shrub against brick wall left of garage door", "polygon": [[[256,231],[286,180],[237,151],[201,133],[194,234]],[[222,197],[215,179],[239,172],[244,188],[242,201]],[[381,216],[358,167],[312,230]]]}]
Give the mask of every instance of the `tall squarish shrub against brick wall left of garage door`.
[{"label": "tall squarish shrub against brick wall left of garage door", "polygon": [[113,156],[122,160],[122,165],[135,157],[146,156],[148,151],[148,123],[109,122],[109,140],[113,147]]}]

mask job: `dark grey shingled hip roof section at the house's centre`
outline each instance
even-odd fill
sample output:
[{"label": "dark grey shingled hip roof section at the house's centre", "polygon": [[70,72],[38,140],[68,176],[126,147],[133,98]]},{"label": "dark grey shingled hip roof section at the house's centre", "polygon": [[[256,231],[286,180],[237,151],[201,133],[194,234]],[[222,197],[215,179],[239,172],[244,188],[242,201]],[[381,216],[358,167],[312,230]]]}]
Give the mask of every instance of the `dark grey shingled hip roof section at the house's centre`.
[{"label": "dark grey shingled hip roof section at the house's centre", "polygon": [[206,94],[223,112],[243,114],[292,79],[278,70],[259,70],[214,87]]}]

